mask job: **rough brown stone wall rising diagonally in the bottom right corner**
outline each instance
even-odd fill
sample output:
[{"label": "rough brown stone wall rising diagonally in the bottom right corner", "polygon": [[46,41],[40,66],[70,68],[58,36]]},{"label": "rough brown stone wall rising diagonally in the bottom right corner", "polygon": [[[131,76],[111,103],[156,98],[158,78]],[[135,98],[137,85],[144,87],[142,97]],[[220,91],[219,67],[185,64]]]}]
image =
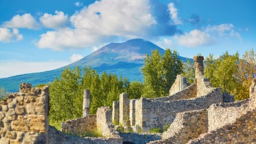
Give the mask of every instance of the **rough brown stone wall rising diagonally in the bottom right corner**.
[{"label": "rough brown stone wall rising diagonally in the bottom right corner", "polygon": [[[246,108],[246,104],[241,105],[241,109],[238,111],[242,111],[243,114],[239,114],[235,121],[231,121],[228,124],[219,127],[218,129],[214,129],[212,131],[208,131],[207,133],[200,135],[195,140],[190,140],[189,143],[256,143],[256,79],[253,80],[252,86],[249,89],[249,104]],[[234,104],[231,103],[231,107]],[[225,109],[225,108],[223,108]],[[229,116],[233,116],[235,113],[228,113]],[[225,111],[219,113],[220,115],[226,115]],[[233,120],[232,119],[232,120]],[[215,118],[217,120],[217,117]],[[222,119],[220,122],[225,123],[226,119]]]}]

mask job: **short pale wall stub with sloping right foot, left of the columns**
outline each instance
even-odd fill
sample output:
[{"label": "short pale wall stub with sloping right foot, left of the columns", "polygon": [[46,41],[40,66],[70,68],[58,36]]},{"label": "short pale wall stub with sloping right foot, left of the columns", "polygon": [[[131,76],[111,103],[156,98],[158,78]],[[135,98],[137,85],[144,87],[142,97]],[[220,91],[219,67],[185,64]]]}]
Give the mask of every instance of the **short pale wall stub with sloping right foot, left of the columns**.
[{"label": "short pale wall stub with sloping right foot, left of the columns", "polygon": [[120,137],[111,122],[112,111],[110,107],[101,107],[97,110],[97,130],[103,137]]}]

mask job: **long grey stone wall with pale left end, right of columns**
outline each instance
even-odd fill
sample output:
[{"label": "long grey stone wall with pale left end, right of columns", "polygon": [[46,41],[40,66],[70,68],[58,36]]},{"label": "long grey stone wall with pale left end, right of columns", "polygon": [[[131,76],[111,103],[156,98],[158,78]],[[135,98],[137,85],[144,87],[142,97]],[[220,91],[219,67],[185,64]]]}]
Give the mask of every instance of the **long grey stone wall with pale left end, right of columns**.
[{"label": "long grey stone wall with pale left end, right of columns", "polygon": [[206,96],[188,100],[155,101],[154,99],[140,98],[136,103],[136,124],[146,132],[153,127],[163,127],[176,118],[176,113],[208,108],[213,103],[222,102],[221,89],[214,89]]}]

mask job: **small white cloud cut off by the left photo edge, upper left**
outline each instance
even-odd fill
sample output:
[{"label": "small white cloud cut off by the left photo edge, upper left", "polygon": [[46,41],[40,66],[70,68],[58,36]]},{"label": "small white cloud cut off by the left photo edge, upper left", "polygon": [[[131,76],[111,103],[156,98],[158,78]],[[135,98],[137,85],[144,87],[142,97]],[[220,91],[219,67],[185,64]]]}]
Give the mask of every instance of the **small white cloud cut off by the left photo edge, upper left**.
[{"label": "small white cloud cut off by the left photo edge, upper left", "polygon": [[0,41],[11,42],[20,41],[23,39],[23,35],[19,33],[17,28],[13,28],[12,31],[9,28],[0,27]]}]

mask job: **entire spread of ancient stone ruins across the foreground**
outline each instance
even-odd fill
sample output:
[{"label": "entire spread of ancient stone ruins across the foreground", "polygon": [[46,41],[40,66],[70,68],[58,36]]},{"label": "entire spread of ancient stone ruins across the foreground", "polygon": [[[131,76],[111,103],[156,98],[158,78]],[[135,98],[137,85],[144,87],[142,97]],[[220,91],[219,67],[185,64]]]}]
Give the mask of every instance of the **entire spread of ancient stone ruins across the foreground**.
[{"label": "entire spread of ancient stone ruins across the foreground", "polygon": [[[20,84],[20,92],[1,101],[0,143],[256,143],[256,79],[249,99],[234,102],[203,76],[203,57],[194,61],[195,84],[178,75],[167,97],[129,100],[122,93],[113,111],[101,107],[91,115],[90,92],[84,90],[83,117],[62,122],[61,132],[48,126],[48,87]],[[162,134],[146,133],[166,124]],[[72,136],[95,130],[102,137]]]}]

